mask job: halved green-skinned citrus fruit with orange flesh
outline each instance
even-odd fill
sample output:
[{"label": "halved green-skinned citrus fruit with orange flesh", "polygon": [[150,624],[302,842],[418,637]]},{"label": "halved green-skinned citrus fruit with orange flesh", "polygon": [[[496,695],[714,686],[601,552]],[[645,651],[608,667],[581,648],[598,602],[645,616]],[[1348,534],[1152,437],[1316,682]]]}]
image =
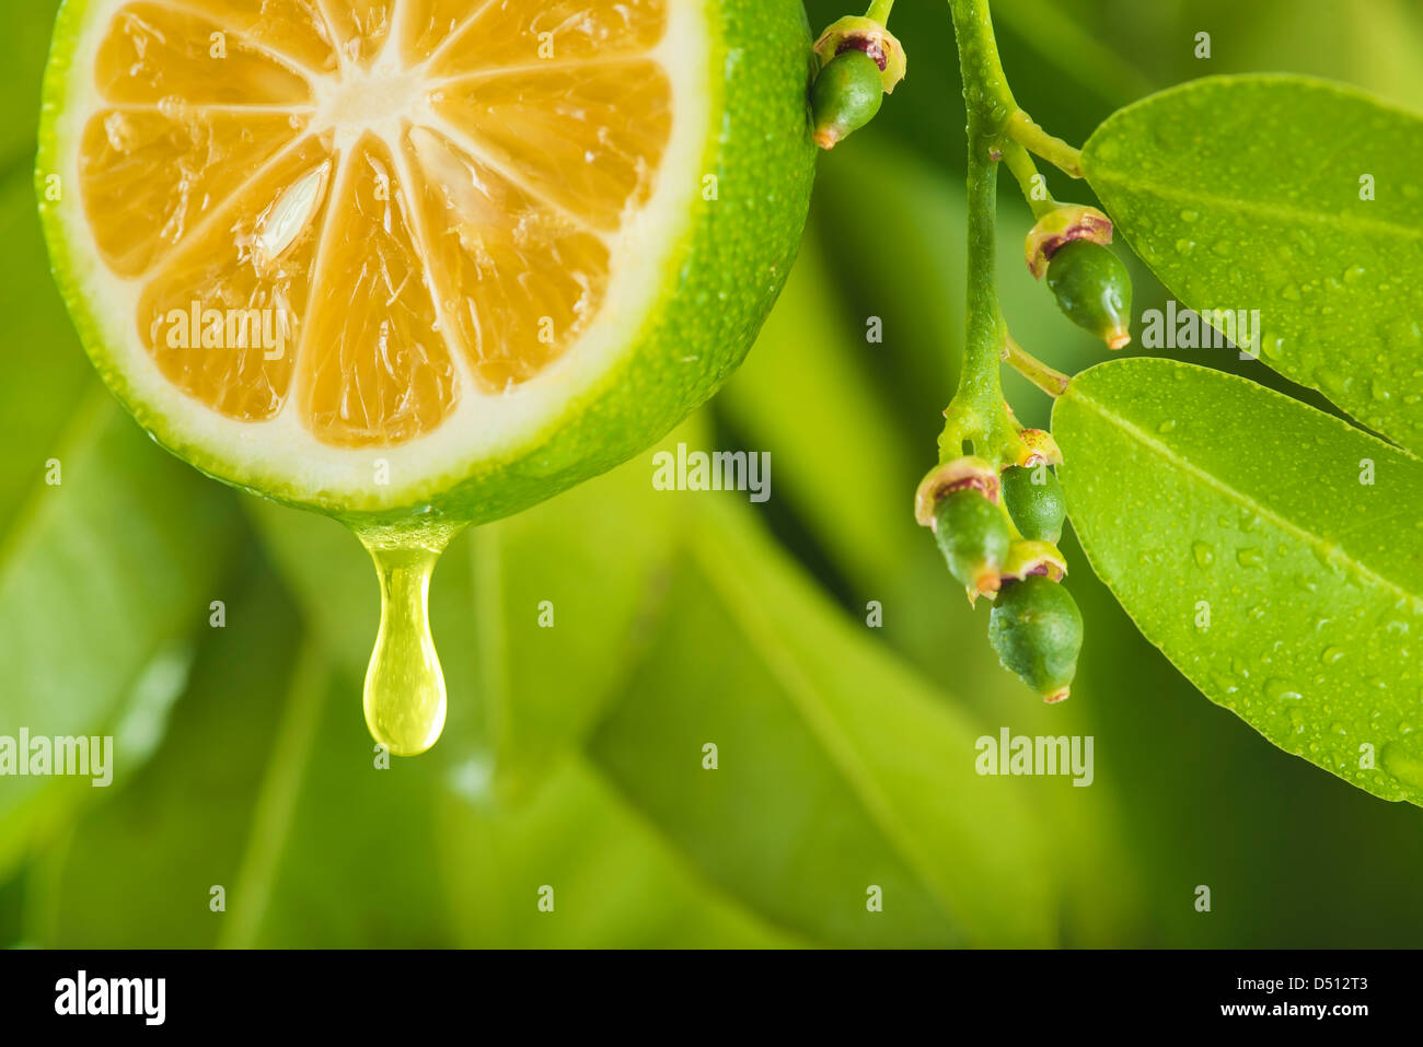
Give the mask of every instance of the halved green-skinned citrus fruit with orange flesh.
[{"label": "halved green-skinned citrus fruit with orange flesh", "polygon": [[741,360],[808,208],[810,61],[800,0],[67,0],[51,257],[205,472],[492,519]]}]

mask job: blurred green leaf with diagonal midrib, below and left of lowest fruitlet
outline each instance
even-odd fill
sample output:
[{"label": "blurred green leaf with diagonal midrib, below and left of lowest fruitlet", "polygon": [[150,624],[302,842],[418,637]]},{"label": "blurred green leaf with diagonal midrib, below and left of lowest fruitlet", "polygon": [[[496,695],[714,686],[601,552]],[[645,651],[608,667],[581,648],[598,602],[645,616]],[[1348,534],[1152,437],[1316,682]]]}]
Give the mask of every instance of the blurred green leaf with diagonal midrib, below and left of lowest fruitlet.
[{"label": "blurred green leaf with diagonal midrib, below and left of lowest fruitlet", "polygon": [[596,762],[778,926],[855,946],[1050,940],[1040,828],[976,772],[983,731],[828,607],[748,515],[706,499]]}]

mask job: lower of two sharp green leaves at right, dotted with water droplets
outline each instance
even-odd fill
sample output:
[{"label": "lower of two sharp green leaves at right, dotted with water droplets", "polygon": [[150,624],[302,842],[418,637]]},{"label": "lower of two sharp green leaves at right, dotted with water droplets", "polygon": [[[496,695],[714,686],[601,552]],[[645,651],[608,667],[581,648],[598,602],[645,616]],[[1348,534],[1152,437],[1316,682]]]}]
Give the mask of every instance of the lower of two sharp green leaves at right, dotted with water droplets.
[{"label": "lower of two sharp green leaves at right, dotted with water droplets", "polygon": [[1423,804],[1423,462],[1151,358],[1073,378],[1053,432],[1081,545],[1146,637],[1281,748]]}]

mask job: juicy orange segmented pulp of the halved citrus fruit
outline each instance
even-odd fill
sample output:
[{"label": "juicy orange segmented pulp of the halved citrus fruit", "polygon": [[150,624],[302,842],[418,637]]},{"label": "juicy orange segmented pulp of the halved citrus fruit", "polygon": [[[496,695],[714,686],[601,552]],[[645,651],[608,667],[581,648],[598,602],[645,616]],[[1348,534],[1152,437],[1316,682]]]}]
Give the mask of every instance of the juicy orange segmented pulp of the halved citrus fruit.
[{"label": "juicy orange segmented pulp of the halved citrus fruit", "polygon": [[665,0],[118,6],[80,191],[144,349],[209,410],[337,448],[538,376],[652,193],[666,30]]}]

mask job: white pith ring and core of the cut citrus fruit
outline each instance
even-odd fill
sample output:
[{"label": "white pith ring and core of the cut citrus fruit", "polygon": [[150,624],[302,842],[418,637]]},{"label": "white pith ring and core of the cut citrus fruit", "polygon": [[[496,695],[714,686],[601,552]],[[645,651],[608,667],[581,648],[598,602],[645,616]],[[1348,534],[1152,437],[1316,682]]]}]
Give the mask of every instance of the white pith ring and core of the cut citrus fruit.
[{"label": "white pith ring and core of the cut citrus fruit", "polygon": [[[703,0],[672,0],[666,36],[647,53],[662,64],[672,84],[672,135],[646,205],[629,208],[619,230],[610,238],[603,236],[610,249],[609,285],[598,316],[583,336],[535,377],[492,394],[478,388],[464,354],[453,349],[450,356],[457,370],[460,398],[444,424],[396,447],[360,450],[332,447],[312,435],[297,415],[295,386],[282,411],[270,421],[236,421],[218,414],[172,386],[139,339],[135,321],[138,296],[151,275],[124,279],[104,265],[80,193],[68,189],[80,185],[84,127],[97,110],[105,107],[92,78],[97,48],[115,13],[128,3],[132,0],[91,0],[84,30],[74,46],[63,85],[64,105],[54,117],[54,161],[67,188],[57,205],[57,219],[68,243],[71,279],[101,329],[102,354],[122,376],[131,401],[145,408],[151,418],[162,420],[159,437],[165,444],[195,450],[205,468],[226,479],[280,491],[285,496],[364,509],[406,505],[413,492],[418,494],[434,479],[475,472],[481,462],[504,459],[531,445],[556,422],[571,401],[592,391],[599,378],[636,346],[633,336],[663,293],[669,260],[693,220],[702,192],[700,168],[713,121],[713,100],[706,90],[712,34]],[[194,10],[182,0],[158,3]],[[400,3],[396,0],[396,27],[403,24]],[[292,144],[313,131],[333,128],[340,161],[344,161],[349,147],[361,134],[371,132],[386,141],[397,166],[403,166],[400,122],[410,119],[434,129],[445,124],[424,101],[428,84],[421,71],[404,70],[398,55],[400,40],[391,38],[369,70],[357,74],[347,68],[344,80],[322,81],[303,71],[316,87],[316,105],[299,111],[312,115],[313,124]],[[492,158],[478,158],[524,185],[518,182],[518,172],[508,171]],[[300,220],[307,193],[329,198],[343,166],[339,162],[333,172],[323,174],[319,185],[292,186],[272,212],[286,208],[295,215],[292,220]],[[408,182],[408,178],[404,181]],[[285,233],[280,219],[272,212],[265,230],[273,240],[269,246],[279,253]],[[434,297],[438,302],[438,296]],[[384,469],[377,468],[381,461]],[[376,484],[376,477],[387,475],[388,484]]]}]

